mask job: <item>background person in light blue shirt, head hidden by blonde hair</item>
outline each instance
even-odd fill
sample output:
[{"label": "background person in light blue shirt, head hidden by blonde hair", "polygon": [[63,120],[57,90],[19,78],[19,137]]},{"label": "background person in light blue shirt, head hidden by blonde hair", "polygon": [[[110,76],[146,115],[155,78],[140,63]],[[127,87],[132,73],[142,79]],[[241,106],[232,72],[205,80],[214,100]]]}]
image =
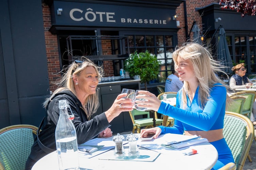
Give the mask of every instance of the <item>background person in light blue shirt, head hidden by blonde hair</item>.
[{"label": "background person in light blue shirt, head hidden by blonde hair", "polygon": [[165,81],[165,92],[178,92],[183,86],[183,82],[179,80],[179,75],[176,71],[172,71]]}]

